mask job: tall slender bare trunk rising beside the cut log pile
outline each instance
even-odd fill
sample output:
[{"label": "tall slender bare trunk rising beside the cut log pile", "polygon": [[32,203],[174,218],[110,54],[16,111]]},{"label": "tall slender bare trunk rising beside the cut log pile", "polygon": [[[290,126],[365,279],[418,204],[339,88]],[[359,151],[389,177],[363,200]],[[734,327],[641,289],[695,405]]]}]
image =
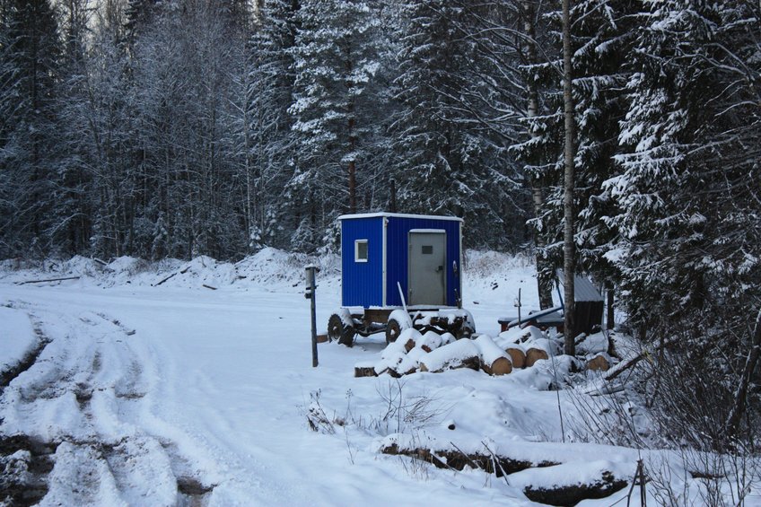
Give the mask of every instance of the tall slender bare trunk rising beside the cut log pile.
[{"label": "tall slender bare trunk rising beside the cut log pile", "polygon": [[573,143],[575,136],[575,122],[573,118],[573,92],[572,84],[572,66],[571,66],[571,0],[563,0],[563,102],[565,116],[565,149],[564,149],[564,234],[563,234],[563,266],[564,266],[564,336],[565,336],[565,354],[575,355],[576,345],[573,339],[576,337],[576,323],[573,319],[573,313],[576,302],[573,295],[573,274],[575,272],[575,245],[573,243],[574,232],[574,167],[573,159],[575,157],[575,145]]}]

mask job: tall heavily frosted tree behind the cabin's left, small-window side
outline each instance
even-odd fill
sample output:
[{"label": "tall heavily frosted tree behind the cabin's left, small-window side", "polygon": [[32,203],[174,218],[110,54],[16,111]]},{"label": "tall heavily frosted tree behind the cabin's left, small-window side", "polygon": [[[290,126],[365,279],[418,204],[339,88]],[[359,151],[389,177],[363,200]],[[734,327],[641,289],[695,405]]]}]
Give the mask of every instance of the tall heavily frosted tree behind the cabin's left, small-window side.
[{"label": "tall heavily frosted tree behind the cabin's left, small-window side", "polygon": [[[358,211],[359,182],[377,129],[373,117],[379,19],[363,0],[306,0],[292,50],[297,135],[289,196],[299,228],[294,246],[316,247],[337,214]],[[307,236],[303,232],[311,231]]]}]

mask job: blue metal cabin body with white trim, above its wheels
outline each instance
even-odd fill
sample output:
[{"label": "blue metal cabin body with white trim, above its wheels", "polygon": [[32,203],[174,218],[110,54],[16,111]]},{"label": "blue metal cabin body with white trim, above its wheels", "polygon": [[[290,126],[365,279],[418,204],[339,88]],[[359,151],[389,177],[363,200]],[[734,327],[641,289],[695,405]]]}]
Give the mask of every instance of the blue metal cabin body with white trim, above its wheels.
[{"label": "blue metal cabin body with white trim, above its wheels", "polygon": [[344,307],[460,307],[462,219],[420,214],[345,214],[341,221]]}]

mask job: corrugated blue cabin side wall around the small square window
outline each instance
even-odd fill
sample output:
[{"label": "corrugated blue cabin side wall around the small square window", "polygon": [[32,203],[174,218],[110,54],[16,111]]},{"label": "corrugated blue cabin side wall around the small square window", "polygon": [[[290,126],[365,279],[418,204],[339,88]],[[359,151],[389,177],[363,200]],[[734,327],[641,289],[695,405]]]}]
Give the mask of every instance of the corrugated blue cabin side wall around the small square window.
[{"label": "corrugated blue cabin side wall around the small square window", "polygon": [[[354,241],[367,240],[367,262],[354,262]],[[383,305],[383,217],[341,221],[341,300],[344,306]]]}]

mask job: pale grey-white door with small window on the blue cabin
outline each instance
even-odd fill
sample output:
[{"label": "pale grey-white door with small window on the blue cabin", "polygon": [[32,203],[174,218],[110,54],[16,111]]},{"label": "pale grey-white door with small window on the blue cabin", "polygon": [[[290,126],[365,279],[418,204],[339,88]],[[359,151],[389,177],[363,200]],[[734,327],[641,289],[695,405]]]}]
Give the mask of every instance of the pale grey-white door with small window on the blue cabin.
[{"label": "pale grey-white door with small window on the blue cabin", "polygon": [[444,231],[409,233],[407,297],[410,305],[446,303],[446,244]]}]

